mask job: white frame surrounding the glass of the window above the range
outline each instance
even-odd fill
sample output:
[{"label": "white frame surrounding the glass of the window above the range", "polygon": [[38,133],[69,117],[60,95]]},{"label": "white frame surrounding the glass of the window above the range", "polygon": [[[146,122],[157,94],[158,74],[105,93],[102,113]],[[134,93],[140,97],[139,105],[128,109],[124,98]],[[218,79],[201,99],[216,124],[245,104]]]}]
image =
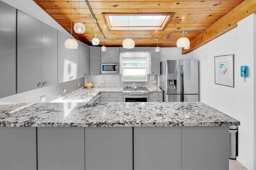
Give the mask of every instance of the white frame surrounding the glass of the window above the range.
[{"label": "white frame surrounding the glass of the window above the range", "polygon": [[[123,76],[123,61],[125,59],[129,60],[138,60],[138,59],[146,59],[146,80],[124,80]],[[120,53],[120,74],[122,74],[122,82],[148,82],[148,74],[150,74],[150,53],[149,52],[121,52]],[[134,67],[140,68],[140,67]]]}]

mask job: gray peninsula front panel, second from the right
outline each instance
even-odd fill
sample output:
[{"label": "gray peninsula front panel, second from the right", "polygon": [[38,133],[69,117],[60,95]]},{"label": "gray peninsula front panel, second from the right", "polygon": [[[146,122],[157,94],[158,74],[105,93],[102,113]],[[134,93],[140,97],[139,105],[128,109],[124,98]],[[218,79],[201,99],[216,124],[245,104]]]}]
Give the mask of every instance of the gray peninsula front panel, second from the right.
[{"label": "gray peninsula front panel, second from the right", "polygon": [[181,127],[134,127],[134,170],[181,170]]}]

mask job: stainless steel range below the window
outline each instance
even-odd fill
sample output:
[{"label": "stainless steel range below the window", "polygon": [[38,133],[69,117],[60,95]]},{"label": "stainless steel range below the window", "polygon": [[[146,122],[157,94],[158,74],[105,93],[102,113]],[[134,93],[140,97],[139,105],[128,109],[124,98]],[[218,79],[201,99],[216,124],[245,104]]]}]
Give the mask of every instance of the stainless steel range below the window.
[{"label": "stainless steel range below the window", "polygon": [[149,102],[147,88],[124,88],[124,102]]}]

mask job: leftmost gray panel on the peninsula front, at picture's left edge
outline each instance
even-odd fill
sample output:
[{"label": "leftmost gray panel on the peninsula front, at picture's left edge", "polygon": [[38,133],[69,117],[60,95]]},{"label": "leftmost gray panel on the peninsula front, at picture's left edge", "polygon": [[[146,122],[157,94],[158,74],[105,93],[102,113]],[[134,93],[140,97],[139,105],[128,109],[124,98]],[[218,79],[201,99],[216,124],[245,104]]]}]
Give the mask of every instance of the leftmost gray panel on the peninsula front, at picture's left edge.
[{"label": "leftmost gray panel on the peninsula front, at picture's left edge", "polygon": [[36,170],[36,127],[0,127],[0,169]]}]

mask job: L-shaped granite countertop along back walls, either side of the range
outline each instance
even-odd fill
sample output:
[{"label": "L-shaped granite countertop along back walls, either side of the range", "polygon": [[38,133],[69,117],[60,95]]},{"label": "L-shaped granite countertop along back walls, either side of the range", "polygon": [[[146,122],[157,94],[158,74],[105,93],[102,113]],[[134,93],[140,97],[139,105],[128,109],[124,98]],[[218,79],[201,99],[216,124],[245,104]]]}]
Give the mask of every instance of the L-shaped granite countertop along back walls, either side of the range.
[{"label": "L-shaped granite countertop along back walls, either side of the range", "polygon": [[[124,87],[129,86],[93,86],[90,89],[80,88],[52,102],[89,102],[100,92],[123,92]],[[149,92],[163,92],[163,90],[161,90],[158,86],[143,87],[148,88]]]}]

